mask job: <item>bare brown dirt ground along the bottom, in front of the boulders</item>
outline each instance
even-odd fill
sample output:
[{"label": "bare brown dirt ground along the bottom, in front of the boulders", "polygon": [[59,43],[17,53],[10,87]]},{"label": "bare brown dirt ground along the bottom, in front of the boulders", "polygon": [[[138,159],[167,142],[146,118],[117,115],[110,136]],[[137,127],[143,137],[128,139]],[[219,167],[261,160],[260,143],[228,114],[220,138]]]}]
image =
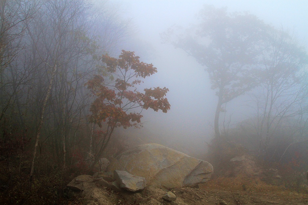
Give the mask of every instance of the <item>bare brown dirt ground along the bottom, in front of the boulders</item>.
[{"label": "bare brown dirt ground along the bottom, in front of the boulders", "polygon": [[[95,182],[94,182],[95,183]],[[163,195],[172,191],[175,201],[163,199]],[[172,190],[152,188],[140,192],[117,192],[95,183],[95,189],[76,197],[70,204],[87,205],[271,205],[271,204],[308,204],[308,194],[298,193],[285,187],[269,185],[258,179],[216,178],[199,187],[182,187]]]}]

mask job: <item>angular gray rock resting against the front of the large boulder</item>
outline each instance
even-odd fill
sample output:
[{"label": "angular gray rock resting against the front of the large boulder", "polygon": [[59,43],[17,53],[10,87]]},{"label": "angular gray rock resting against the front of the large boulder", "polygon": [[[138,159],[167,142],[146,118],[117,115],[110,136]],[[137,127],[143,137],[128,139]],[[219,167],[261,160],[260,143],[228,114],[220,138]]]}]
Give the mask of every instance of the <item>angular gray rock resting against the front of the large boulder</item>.
[{"label": "angular gray rock resting against the front of the large boulder", "polygon": [[146,184],[144,177],[131,175],[127,171],[115,170],[113,176],[120,187],[128,191],[140,191],[144,189]]}]

